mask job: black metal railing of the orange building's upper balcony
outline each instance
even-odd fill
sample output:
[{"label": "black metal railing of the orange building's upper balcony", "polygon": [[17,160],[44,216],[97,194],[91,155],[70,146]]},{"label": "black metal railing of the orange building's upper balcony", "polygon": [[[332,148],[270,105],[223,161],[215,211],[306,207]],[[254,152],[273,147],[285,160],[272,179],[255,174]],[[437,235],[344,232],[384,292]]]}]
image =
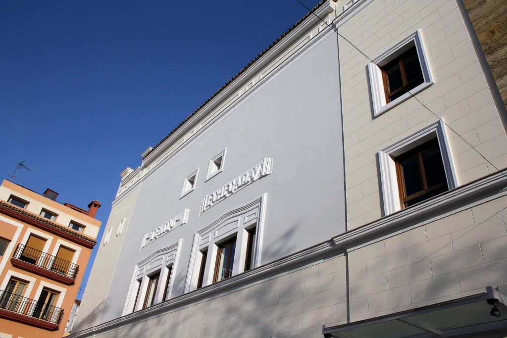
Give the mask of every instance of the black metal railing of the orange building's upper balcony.
[{"label": "black metal railing of the orange building's upper balcony", "polygon": [[30,248],[29,246],[25,246],[23,244],[18,244],[13,257],[74,279],[78,273],[79,266],[77,264],[45,252],[35,250],[34,248]]}]

